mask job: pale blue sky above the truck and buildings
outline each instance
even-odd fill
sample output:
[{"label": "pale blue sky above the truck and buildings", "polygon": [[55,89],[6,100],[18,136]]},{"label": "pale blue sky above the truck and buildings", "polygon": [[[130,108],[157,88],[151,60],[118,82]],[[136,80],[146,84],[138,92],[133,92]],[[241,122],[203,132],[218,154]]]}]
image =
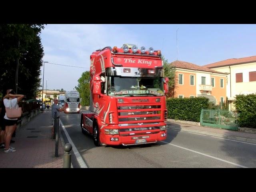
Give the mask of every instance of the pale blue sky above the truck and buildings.
[{"label": "pale blue sky above the truck and buildings", "polygon": [[[199,66],[256,56],[256,24],[47,24],[40,37],[43,61],[49,62],[44,89],[47,80],[50,90],[73,90],[82,72],[90,70],[90,54],[106,46],[152,47],[168,62],[178,59]],[[43,66],[40,78],[42,74]]]}]

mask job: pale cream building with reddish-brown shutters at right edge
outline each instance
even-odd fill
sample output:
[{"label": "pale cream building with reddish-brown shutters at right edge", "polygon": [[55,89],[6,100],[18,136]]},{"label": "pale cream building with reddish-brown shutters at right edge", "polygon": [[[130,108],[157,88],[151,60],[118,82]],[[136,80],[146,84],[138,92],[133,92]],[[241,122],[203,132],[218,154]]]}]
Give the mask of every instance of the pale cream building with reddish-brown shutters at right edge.
[{"label": "pale cream building with reddish-brown shutters at right edge", "polygon": [[256,93],[256,56],[227,59],[204,67],[228,73],[226,94],[230,109],[234,109],[236,95]]}]

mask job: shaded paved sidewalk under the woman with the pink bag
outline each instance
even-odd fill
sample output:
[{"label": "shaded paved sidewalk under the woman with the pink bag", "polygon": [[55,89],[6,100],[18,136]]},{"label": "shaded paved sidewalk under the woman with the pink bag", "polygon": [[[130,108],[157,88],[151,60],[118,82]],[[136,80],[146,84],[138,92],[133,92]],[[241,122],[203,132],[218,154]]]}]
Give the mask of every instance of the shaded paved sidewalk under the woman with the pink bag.
[{"label": "shaded paved sidewalk under the woman with the pink bag", "polygon": [[55,140],[51,139],[51,112],[32,118],[16,130],[16,152],[4,153],[0,149],[0,168],[63,168],[64,151],[59,138],[58,157],[55,157]]}]

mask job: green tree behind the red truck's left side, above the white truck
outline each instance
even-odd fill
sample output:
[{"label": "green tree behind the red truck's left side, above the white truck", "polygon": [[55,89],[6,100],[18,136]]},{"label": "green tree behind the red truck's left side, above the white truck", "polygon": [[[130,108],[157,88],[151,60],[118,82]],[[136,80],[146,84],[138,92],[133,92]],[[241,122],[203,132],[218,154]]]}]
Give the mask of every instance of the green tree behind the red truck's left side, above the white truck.
[{"label": "green tree behind the red truck's left side, above the white truck", "polygon": [[86,71],[82,73],[82,76],[78,79],[78,86],[75,87],[82,98],[81,105],[89,106],[90,102],[90,72]]}]

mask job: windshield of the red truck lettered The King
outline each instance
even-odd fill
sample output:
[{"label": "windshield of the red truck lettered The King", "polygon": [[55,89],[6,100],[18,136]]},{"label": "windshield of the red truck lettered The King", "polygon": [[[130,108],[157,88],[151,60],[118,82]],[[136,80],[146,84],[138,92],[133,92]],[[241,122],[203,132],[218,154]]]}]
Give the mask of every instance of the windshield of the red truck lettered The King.
[{"label": "windshield of the red truck lettered The King", "polygon": [[163,80],[162,77],[110,76],[108,81],[108,94],[118,96],[163,96]]}]

